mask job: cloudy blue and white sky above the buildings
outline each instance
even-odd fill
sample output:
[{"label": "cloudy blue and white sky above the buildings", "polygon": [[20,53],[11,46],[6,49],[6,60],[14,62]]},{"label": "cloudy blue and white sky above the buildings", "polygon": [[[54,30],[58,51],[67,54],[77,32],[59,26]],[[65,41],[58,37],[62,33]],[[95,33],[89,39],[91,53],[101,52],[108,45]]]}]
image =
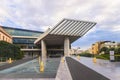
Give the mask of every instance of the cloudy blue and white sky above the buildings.
[{"label": "cloudy blue and white sky above the buildings", "polygon": [[96,22],[72,43],[88,49],[97,41],[120,42],[120,0],[0,0],[0,25],[45,31],[63,18]]}]

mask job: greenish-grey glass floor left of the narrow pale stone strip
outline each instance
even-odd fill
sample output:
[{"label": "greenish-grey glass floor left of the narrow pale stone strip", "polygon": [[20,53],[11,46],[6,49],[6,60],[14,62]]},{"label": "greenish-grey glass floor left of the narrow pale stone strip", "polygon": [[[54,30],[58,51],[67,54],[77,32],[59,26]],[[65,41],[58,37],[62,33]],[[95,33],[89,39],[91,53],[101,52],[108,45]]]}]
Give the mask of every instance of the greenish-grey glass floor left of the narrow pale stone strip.
[{"label": "greenish-grey glass floor left of the narrow pale stone strip", "polygon": [[[59,66],[60,58],[48,59],[47,67],[43,73],[39,72],[38,60],[34,59],[28,62],[27,60],[17,61],[17,64],[23,61],[26,63],[10,68],[5,72],[3,71],[3,73],[0,74],[0,80],[55,80],[56,69]],[[15,64],[9,65],[13,66]]]}]

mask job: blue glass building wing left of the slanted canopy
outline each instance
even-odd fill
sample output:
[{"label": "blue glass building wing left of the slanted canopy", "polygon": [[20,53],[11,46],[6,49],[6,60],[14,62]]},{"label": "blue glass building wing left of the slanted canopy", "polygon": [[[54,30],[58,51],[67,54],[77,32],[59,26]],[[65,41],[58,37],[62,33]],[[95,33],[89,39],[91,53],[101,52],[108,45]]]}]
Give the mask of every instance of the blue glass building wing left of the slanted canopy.
[{"label": "blue glass building wing left of the slanted canopy", "polygon": [[[5,27],[2,28],[12,36],[13,44],[20,46],[21,49],[35,49],[37,48],[34,45],[34,41],[42,34],[41,31],[33,31],[27,29],[19,29],[19,28],[12,28],[12,27]],[[26,52],[30,53],[29,50],[25,50]]]}]

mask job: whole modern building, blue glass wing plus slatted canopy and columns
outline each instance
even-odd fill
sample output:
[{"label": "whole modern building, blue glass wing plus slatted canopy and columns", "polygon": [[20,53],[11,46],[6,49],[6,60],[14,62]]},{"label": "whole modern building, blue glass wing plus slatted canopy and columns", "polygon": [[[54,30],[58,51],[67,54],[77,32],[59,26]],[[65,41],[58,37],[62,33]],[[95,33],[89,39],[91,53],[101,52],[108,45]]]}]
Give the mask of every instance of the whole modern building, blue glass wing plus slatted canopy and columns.
[{"label": "whole modern building, blue glass wing plus slatted canopy and columns", "polygon": [[32,31],[11,27],[2,27],[12,36],[13,44],[20,46],[26,53],[39,53],[45,59],[50,53],[53,55],[70,55],[71,44],[84,36],[95,22],[63,19],[52,29],[47,31]]}]

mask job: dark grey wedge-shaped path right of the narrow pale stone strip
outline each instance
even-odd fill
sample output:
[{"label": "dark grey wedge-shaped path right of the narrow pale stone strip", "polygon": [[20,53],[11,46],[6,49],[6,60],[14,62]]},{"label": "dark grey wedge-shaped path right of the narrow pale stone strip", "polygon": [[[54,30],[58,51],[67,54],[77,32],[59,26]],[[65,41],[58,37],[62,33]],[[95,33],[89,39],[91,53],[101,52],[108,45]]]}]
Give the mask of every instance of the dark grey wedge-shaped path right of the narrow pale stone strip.
[{"label": "dark grey wedge-shaped path right of the narrow pale stone strip", "polygon": [[71,57],[66,57],[66,61],[73,80],[110,80]]}]

